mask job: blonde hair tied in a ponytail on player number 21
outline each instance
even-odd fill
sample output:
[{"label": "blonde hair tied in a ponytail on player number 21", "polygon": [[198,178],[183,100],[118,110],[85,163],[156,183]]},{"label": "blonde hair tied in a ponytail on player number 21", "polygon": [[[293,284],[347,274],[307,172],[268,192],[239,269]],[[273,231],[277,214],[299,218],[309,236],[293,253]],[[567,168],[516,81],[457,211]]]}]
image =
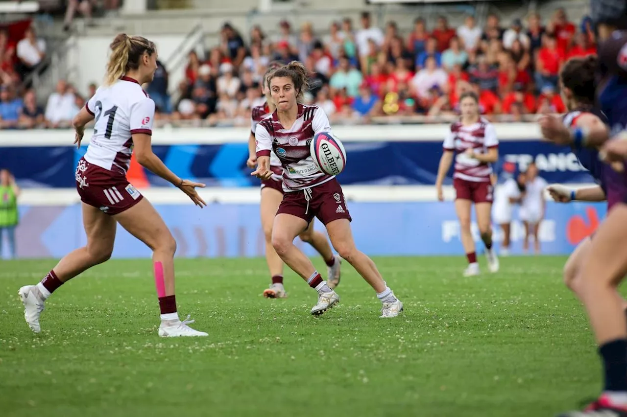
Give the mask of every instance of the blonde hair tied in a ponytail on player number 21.
[{"label": "blonde hair tied in a ponytail on player number 21", "polygon": [[152,55],[156,50],[155,44],[148,39],[142,36],[129,36],[125,33],[115,36],[109,48],[111,54],[107,63],[105,85],[112,85],[129,70],[137,70],[142,55],[144,53]]}]

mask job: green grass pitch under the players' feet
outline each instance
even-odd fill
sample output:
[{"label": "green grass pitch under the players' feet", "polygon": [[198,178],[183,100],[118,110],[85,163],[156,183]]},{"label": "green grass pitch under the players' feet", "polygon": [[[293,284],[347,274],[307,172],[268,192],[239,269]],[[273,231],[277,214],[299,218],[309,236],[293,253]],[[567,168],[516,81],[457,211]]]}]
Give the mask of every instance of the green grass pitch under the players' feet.
[{"label": "green grass pitch under the players' feet", "polygon": [[0,415],[552,416],[598,394],[565,258],[505,258],[473,278],[461,257],[375,260],[404,301],[398,319],[379,319],[349,265],[339,307],[313,317],[316,294],[291,271],[288,299],[261,297],[263,259],[177,259],[179,314],[209,332],[189,339],[157,336],[150,260],[65,284],[38,335],[17,291],[54,261],[0,262]]}]

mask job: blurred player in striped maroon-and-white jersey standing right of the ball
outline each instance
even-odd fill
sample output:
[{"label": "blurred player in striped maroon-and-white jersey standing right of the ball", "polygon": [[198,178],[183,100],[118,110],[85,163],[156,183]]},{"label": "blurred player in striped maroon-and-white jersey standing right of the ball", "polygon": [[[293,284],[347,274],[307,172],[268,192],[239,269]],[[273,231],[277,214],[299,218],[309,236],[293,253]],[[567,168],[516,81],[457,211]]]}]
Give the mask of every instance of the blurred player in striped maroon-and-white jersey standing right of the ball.
[{"label": "blurred player in striped maroon-and-white jersey standing right of the ball", "polygon": [[[490,163],[498,160],[498,139],[492,123],[479,114],[479,99],[467,91],[460,96],[461,118],[451,125],[444,140],[444,152],[440,158],[436,188],[438,200],[444,200],[442,183],[455,156],[455,211],[460,220],[461,244],[466,251],[468,267],[465,277],[480,273],[475,250],[475,240],[470,231],[470,208],[475,203],[477,224],[485,245],[485,255],[490,272],[498,271],[498,258],[492,248],[492,182]],[[457,155],[455,155],[455,153]]]}]

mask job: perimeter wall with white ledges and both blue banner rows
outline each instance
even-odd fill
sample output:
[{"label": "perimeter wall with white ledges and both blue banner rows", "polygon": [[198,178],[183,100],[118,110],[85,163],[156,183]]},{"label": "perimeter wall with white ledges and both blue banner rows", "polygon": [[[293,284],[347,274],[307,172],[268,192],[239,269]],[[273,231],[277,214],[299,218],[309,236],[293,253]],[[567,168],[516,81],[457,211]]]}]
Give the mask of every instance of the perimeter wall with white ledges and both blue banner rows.
[{"label": "perimeter wall with white ledges and both blue banner rows", "polygon": [[[357,244],[370,255],[462,254],[459,224],[446,187],[446,202],[435,202],[435,171],[446,125],[337,126],[347,149],[347,168],[339,176],[354,219]],[[502,160],[524,169],[535,160],[548,182],[587,183],[589,177],[567,148],[540,142],[533,124],[496,125]],[[144,172],[142,193],[171,227],[181,257],[261,256],[263,232],[259,188],[245,167],[246,128],[155,129],[155,150],[178,175],[210,187],[209,203],[194,207],[174,187]],[[89,137],[89,132],[86,138]],[[19,257],[61,257],[85,244],[80,203],[73,187],[76,150],[73,134],[60,131],[1,131],[0,167],[9,167],[23,187],[17,230]],[[389,175],[393,172],[394,175]],[[545,254],[567,254],[603,219],[603,203],[547,203],[540,228]],[[517,219],[517,214],[514,214]],[[317,229],[322,225],[317,223]],[[473,224],[475,239],[477,226]],[[520,253],[522,225],[513,224],[513,252]],[[495,240],[501,239],[495,227]],[[306,245],[303,249],[313,255]],[[6,251],[6,248],[5,248]],[[5,254],[6,255],[6,254]],[[120,228],[114,257],[149,257],[149,250]]]}]

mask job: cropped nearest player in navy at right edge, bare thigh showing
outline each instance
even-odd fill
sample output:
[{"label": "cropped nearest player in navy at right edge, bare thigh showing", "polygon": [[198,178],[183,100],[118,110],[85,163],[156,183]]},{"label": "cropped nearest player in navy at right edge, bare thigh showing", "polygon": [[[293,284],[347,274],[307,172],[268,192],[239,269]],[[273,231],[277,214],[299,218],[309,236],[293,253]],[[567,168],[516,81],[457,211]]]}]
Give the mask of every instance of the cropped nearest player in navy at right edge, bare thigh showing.
[{"label": "cropped nearest player in navy at right edge, bare thigh showing", "polygon": [[603,169],[611,210],[590,240],[584,262],[574,277],[574,291],[586,307],[599,346],[604,387],[598,400],[585,411],[561,416],[627,417],[627,317],[617,292],[627,272],[627,148],[621,139],[627,127],[627,2],[595,0],[591,5],[598,30],[599,75],[603,78],[596,97],[611,130],[603,123],[566,129],[559,119],[549,115],[539,120],[542,135],[552,142],[575,148],[600,147],[604,160],[619,163],[619,167],[606,165]]}]

